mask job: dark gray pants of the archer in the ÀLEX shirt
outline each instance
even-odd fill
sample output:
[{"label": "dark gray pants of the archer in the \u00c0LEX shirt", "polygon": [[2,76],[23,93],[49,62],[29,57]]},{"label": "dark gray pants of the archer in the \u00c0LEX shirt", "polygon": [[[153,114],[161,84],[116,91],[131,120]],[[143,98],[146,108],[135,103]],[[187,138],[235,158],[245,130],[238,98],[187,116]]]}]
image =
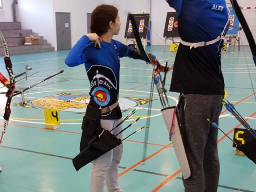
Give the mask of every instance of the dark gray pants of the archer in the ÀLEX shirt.
[{"label": "dark gray pants of the archer in the \u00c0LEX shirt", "polygon": [[217,192],[218,129],[211,127],[207,118],[218,124],[224,96],[185,94],[184,98],[184,114],[181,115],[185,121],[185,148],[192,172],[189,179],[183,180],[185,192]]}]

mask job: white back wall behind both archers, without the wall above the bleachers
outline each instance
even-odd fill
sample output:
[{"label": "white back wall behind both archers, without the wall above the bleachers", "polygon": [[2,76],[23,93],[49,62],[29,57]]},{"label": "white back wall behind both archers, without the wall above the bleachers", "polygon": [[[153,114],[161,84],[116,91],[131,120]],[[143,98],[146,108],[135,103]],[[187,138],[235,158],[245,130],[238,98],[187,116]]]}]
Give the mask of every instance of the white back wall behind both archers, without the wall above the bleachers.
[{"label": "white back wall behind both archers, without the wall above the bleachers", "polygon": [[[128,11],[131,13],[148,12],[150,0],[65,0],[65,4],[63,4],[63,0],[53,0],[53,2],[54,12],[71,12],[72,45],[74,45],[80,36],[87,32],[86,13],[91,13],[97,5],[103,3],[114,5],[119,9],[122,26],[119,35],[114,36],[114,38],[125,43],[124,34]],[[256,6],[256,0],[238,0],[238,3],[242,7]],[[163,30],[166,14],[173,11],[175,10],[170,8],[165,0],[152,0],[151,38],[153,45],[164,44]],[[256,39],[256,9],[243,10],[243,13]],[[171,41],[167,41],[167,45],[170,43]],[[247,44],[243,32],[241,32],[241,43]]]}]

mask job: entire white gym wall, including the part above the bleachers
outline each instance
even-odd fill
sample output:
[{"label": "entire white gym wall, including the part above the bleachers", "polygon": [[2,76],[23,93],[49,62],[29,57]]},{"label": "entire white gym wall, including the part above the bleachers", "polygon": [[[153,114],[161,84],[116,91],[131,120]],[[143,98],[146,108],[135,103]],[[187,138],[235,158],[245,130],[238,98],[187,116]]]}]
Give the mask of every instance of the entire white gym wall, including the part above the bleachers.
[{"label": "entire white gym wall, including the part above the bleachers", "polygon": [[[163,45],[163,29],[166,13],[172,12],[164,0],[152,1],[152,41],[153,45]],[[13,0],[3,0],[3,9],[0,9],[0,21],[12,21]],[[125,42],[125,24],[127,13],[143,13],[149,11],[150,0],[18,0],[17,20],[22,22],[23,29],[32,29],[44,36],[52,46],[56,46],[55,13],[71,13],[71,39],[72,45],[87,32],[87,13],[91,13],[99,4],[112,4],[119,9],[121,17],[121,30],[116,40]],[[255,7],[256,0],[238,0],[242,7]],[[245,18],[256,39],[256,9],[243,10]],[[171,41],[167,42],[169,44]],[[243,32],[241,32],[242,44],[247,44]]]}]

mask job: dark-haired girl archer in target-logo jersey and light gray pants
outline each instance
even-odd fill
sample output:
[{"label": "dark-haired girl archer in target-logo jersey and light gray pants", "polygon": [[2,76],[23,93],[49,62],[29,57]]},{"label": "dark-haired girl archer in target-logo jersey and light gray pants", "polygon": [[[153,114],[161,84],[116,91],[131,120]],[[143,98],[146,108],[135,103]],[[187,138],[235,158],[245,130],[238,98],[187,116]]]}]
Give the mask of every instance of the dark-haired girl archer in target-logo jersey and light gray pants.
[{"label": "dark-haired girl archer in target-logo jersey and light gray pants", "polygon": [[[101,108],[101,127],[114,128],[122,119],[118,106],[120,58],[142,59],[134,46],[127,46],[113,40],[120,31],[118,10],[111,5],[100,5],[91,15],[91,32],[83,35],[70,50],[65,63],[70,66],[85,64],[90,81],[90,102]],[[149,54],[152,62],[157,60]],[[122,130],[122,124],[112,134]],[[122,139],[122,134],[117,138]],[[103,192],[104,182],[108,192],[121,192],[118,185],[118,165],[123,153],[123,145],[93,160],[90,177],[90,192]]]}]

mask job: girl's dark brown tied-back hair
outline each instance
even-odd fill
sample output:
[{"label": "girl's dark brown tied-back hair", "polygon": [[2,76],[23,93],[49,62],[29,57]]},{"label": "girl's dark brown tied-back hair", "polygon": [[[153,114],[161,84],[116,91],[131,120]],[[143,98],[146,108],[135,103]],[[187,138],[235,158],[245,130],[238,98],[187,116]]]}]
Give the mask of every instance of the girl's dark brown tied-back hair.
[{"label": "girl's dark brown tied-back hair", "polygon": [[118,10],[112,5],[99,5],[91,15],[91,32],[97,35],[105,34],[109,29],[109,22],[115,22]]}]

